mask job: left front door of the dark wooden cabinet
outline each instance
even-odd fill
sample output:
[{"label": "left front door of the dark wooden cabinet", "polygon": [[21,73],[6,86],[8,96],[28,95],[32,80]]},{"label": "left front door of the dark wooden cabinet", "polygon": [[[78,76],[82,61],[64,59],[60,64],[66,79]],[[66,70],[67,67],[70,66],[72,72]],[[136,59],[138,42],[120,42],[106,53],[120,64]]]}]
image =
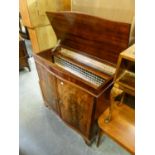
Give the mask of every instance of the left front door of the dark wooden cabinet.
[{"label": "left front door of the dark wooden cabinet", "polygon": [[57,103],[57,88],[56,77],[52,75],[45,67],[36,63],[39,84],[42,92],[42,96],[46,106],[52,108],[56,113],[59,113],[59,107]]}]

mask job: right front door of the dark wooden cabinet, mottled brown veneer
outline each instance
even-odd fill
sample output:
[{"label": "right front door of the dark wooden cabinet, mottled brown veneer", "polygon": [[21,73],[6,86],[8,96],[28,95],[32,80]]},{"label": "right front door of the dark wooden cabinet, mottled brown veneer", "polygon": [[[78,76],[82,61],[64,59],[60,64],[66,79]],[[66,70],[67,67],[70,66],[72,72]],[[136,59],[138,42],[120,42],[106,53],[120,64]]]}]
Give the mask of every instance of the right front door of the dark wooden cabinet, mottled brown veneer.
[{"label": "right front door of the dark wooden cabinet, mottled brown veneer", "polygon": [[94,97],[75,85],[57,79],[62,119],[89,137]]}]

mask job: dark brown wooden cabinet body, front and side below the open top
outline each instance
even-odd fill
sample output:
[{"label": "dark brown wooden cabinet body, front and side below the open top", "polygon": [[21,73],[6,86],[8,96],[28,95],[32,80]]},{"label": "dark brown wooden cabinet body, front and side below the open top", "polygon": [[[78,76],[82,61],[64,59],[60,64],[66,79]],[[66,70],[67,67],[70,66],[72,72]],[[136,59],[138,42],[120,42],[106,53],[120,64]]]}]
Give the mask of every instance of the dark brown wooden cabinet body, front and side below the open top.
[{"label": "dark brown wooden cabinet body, front and side below the open top", "polygon": [[40,61],[37,55],[34,57],[45,105],[80,133],[86,142],[91,142],[98,130],[97,116],[108,107],[109,92],[95,97],[75,83],[52,74],[45,60]]}]

